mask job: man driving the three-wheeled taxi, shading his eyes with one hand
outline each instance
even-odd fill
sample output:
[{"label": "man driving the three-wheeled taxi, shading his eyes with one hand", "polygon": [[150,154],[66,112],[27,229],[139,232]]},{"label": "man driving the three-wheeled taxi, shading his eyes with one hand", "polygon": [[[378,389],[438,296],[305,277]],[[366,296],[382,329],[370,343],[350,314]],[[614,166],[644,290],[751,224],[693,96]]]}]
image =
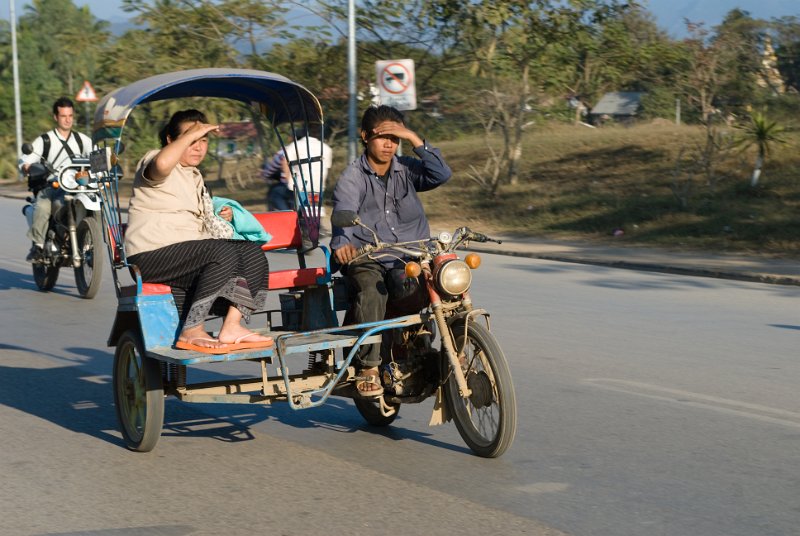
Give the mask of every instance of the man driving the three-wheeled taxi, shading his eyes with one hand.
[{"label": "man driving the three-wheeled taxi, shading his eyes with one hand", "polygon": [[[400,140],[406,140],[419,158],[396,156]],[[405,125],[403,114],[391,106],[371,106],[361,119],[364,154],[350,164],[333,190],[333,211],[356,212],[382,242],[397,243],[430,238],[430,227],[417,192],[432,190],[450,178],[450,168],[441,152]],[[402,273],[396,258],[374,261],[360,258],[357,248],[372,241],[360,227],[333,227],[331,250],[343,265],[350,307],[345,324],[375,322],[386,316],[392,281]],[[380,345],[364,345],[356,359],[360,371],[356,389],[362,397],[383,394],[378,366]]]}]

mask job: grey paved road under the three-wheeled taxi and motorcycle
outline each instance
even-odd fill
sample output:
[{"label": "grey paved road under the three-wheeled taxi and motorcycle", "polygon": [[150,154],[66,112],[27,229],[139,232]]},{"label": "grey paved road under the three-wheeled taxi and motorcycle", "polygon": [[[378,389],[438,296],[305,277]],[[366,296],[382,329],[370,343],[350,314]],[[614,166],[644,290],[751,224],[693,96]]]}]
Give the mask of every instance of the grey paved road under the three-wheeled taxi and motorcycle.
[{"label": "grey paved road under the three-wheeled taxi and motorcycle", "polygon": [[[0,199],[0,225],[17,212]],[[169,401],[143,455],[115,430],[110,287],[81,300],[65,273],[36,292],[24,239],[2,240],[0,534],[752,536],[800,522],[796,287],[486,255],[475,298],[520,408],[502,458],[429,428],[429,405],[376,433],[342,400]]]}]

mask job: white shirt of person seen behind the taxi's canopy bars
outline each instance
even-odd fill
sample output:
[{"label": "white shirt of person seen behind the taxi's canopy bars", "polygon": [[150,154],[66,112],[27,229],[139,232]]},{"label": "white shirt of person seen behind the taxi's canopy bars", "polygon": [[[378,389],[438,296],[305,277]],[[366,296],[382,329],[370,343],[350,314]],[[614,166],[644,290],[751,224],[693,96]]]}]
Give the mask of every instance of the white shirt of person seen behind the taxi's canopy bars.
[{"label": "white shirt of person seen behind the taxi's canopy bars", "polygon": [[[288,165],[291,176],[294,180],[289,180],[287,186],[289,190],[294,190],[295,181],[300,188],[297,196],[301,200],[304,196],[314,197],[308,199],[309,203],[315,205],[319,203],[319,196],[325,188],[325,179],[328,177],[328,170],[333,162],[333,151],[327,143],[310,136],[307,132],[299,134],[299,139],[286,144],[285,164]],[[320,166],[319,158],[322,158]],[[313,160],[309,162],[308,160]],[[305,187],[303,186],[305,184]],[[325,213],[320,207],[320,215]]]}]

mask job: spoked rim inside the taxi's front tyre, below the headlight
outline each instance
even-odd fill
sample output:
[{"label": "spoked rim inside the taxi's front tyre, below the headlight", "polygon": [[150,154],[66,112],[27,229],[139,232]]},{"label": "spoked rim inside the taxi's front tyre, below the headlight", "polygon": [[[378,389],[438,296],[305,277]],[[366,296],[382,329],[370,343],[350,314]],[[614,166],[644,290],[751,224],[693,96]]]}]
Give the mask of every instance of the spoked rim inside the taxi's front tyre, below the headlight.
[{"label": "spoked rim inside the taxi's front tyre, below the headlight", "polygon": [[[461,367],[472,394],[458,397],[454,410],[464,414],[473,431],[484,445],[491,444],[500,433],[502,410],[497,392],[497,382],[481,347],[467,337],[464,345],[464,365]],[[455,381],[455,379],[451,379]]]}]

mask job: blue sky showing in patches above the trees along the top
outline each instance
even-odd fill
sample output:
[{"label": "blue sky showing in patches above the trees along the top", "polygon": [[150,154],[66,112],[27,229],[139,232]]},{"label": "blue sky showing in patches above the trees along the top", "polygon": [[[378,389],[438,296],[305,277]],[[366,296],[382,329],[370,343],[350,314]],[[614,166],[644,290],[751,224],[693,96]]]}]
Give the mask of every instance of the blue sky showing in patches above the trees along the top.
[{"label": "blue sky showing in patches above the trees along the top", "polygon": [[[120,9],[121,0],[73,0],[76,5],[88,5],[92,13],[99,19],[124,22],[128,14]],[[0,0],[0,18],[8,20],[9,6],[15,2],[17,17],[24,13],[24,6],[29,0]],[[684,35],[684,18],[692,22],[703,22],[709,28],[722,22],[725,14],[731,9],[740,8],[754,18],[772,19],[787,15],[800,17],[800,1],[798,0],[640,0],[653,15],[658,25],[672,37]],[[356,9],[358,1],[356,0]],[[295,10],[295,23],[302,23],[306,17],[302,9]],[[312,17],[308,15],[309,21]]]}]

